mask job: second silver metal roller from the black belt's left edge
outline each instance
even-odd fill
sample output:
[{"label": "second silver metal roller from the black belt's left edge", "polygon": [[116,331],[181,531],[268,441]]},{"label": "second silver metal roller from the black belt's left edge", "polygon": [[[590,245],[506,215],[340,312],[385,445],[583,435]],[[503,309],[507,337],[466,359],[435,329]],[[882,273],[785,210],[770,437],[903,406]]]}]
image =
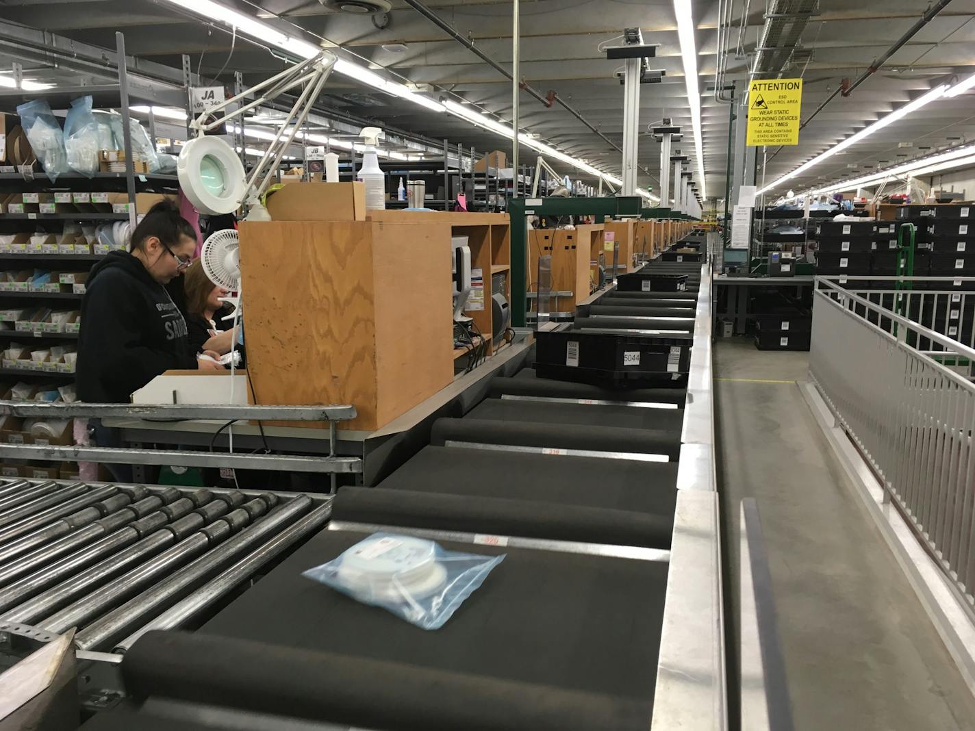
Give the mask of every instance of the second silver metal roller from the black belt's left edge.
[{"label": "second silver metal roller from the black belt's left edge", "polygon": [[[209,551],[200,558],[197,558],[189,565],[183,567],[139,596],[130,599],[121,606],[108,612],[108,614],[86,627],[84,631],[75,635],[75,643],[79,648],[87,650],[111,642],[119,636],[124,636],[124,633],[130,628],[137,627],[138,623],[145,621],[147,617],[151,617],[153,613],[163,609],[174,597],[185,593],[187,590],[191,590],[195,584],[198,584],[207,576],[212,575],[224,563],[233,560],[241,551],[253,548],[261,541],[266,540],[275,531],[279,530],[283,524],[292,522],[292,520],[307,512],[311,505],[311,498],[302,496],[275,508],[266,518],[255,522],[250,529],[238,533],[233,538],[221,543],[213,551]],[[328,519],[330,510],[327,510],[326,506],[323,506],[316,513],[318,514],[317,522],[313,522],[312,524],[302,523],[305,532],[311,530],[316,525],[323,525]],[[291,530],[294,529],[295,525],[291,526]],[[288,531],[286,530],[285,532]],[[296,539],[297,536],[292,538],[291,542]],[[285,545],[290,545],[290,543],[286,543]],[[278,552],[280,553],[284,547],[281,546]],[[267,547],[262,546],[255,554],[252,554],[252,557],[256,556],[260,558],[259,562],[257,562],[257,558],[254,559],[254,568],[271,558],[271,556],[261,558],[265,556],[266,551]],[[52,617],[49,622],[44,623],[45,626],[63,626],[63,623],[54,624],[54,620],[55,618]],[[67,625],[65,629],[71,626]]]}]

